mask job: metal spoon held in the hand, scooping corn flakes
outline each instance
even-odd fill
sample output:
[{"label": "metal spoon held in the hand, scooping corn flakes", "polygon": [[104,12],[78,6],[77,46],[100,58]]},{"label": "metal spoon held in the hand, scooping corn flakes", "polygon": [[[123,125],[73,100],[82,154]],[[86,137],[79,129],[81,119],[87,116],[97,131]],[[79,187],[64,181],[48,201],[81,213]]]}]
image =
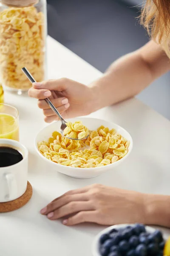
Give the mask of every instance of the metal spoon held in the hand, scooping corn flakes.
[{"label": "metal spoon held in the hand, scooping corn flakes", "polygon": [[[31,83],[36,83],[34,77],[29,73],[29,71],[26,69],[26,67],[22,68],[23,73],[27,76],[27,78],[31,81]],[[62,136],[66,137],[63,134],[64,129],[67,127],[65,120],[62,118],[62,116],[60,115],[59,111],[57,110],[57,108],[54,107],[54,105],[52,104],[51,100],[46,98],[45,101],[48,103],[48,105],[50,106],[50,108],[54,111],[54,113],[57,114],[57,116],[59,117],[59,119],[61,120],[61,127],[60,127],[60,133],[62,134]],[[73,139],[70,137],[66,137],[70,140],[85,140],[89,137],[89,135],[83,139]]]}]

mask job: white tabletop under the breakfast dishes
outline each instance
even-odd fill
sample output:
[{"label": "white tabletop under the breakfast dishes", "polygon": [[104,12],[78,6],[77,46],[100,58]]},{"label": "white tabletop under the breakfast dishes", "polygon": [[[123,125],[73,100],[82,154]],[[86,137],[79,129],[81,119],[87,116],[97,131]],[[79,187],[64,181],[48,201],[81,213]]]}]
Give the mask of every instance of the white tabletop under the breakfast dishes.
[{"label": "white tabletop under the breakfast dishes", "polygon": [[[48,78],[68,77],[88,84],[102,74],[54,39],[48,37]],[[133,137],[130,157],[116,170],[79,180],[48,169],[34,149],[34,137],[45,124],[37,100],[6,93],[6,102],[20,113],[20,142],[29,150],[29,181],[34,192],[22,209],[0,214],[0,256],[91,256],[91,242],[103,229],[82,224],[65,227],[39,211],[70,189],[102,183],[141,192],[170,194],[170,122],[131,99],[91,114],[121,125]],[[164,229],[170,235],[170,230]],[[81,243],[82,242],[82,243]]]}]

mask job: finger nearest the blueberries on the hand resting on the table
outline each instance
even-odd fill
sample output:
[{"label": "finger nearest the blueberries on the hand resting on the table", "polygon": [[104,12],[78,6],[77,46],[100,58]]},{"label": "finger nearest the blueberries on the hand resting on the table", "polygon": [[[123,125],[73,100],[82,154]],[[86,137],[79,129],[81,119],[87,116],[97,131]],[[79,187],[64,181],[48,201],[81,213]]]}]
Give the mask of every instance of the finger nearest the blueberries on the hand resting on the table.
[{"label": "finger nearest the blueberries on the hand resting on the table", "polygon": [[64,225],[73,226],[83,222],[96,222],[96,211],[82,211],[62,221]]}]

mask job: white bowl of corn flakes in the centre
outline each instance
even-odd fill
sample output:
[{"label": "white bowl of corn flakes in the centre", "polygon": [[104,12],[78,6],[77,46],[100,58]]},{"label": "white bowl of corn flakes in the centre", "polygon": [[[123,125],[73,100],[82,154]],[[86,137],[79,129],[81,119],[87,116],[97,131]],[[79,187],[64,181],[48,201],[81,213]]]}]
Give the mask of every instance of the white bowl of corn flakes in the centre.
[{"label": "white bowl of corn flakes in the centre", "polygon": [[39,156],[57,172],[75,178],[96,177],[113,170],[132,151],[132,137],[115,123],[88,117],[67,121],[67,137],[75,139],[79,134],[89,137],[68,139],[60,134],[61,123],[57,121],[43,128],[34,142]]}]

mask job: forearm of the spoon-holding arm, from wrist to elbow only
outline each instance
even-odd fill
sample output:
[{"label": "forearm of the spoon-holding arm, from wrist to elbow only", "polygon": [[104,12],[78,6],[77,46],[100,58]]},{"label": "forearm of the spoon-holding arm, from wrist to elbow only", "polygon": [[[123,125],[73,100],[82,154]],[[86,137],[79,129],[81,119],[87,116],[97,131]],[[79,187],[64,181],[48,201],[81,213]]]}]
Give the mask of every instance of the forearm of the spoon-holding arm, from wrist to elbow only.
[{"label": "forearm of the spoon-holding arm, from wrist to elbow only", "polygon": [[99,108],[135,96],[153,81],[150,69],[136,53],[125,55],[92,83]]}]

